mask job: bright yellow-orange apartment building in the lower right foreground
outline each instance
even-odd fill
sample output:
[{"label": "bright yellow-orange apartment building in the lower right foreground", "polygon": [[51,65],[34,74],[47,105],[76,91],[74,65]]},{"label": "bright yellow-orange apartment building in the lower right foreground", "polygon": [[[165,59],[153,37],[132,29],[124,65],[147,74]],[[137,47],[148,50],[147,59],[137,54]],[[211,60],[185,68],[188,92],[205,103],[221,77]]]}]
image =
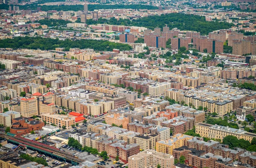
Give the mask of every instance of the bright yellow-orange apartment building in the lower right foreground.
[{"label": "bright yellow-orange apartment building in the lower right foreground", "polygon": [[156,144],[156,151],[172,155],[173,149],[185,146],[186,142],[192,138],[193,136],[178,133],[174,135],[171,139],[168,139],[166,141],[158,141]]}]

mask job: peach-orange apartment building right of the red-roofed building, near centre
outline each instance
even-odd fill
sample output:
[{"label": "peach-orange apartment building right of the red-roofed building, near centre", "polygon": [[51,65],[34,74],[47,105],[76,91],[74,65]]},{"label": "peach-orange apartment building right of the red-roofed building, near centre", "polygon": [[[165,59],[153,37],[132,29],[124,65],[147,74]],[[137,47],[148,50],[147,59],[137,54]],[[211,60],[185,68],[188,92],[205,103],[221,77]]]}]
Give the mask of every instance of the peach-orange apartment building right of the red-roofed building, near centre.
[{"label": "peach-orange apartment building right of the red-roofed building, near centre", "polygon": [[112,125],[112,124],[115,124],[118,126],[122,125],[122,128],[124,129],[127,129],[127,125],[129,123],[129,119],[127,117],[120,116],[119,113],[106,116],[105,121],[109,125]]}]

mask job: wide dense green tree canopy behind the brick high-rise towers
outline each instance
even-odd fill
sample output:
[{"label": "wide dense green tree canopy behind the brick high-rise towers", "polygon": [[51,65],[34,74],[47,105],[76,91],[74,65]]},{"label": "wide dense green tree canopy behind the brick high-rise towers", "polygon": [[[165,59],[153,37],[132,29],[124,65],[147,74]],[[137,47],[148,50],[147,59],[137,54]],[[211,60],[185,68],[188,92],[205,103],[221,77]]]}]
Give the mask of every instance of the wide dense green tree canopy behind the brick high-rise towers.
[{"label": "wide dense green tree canopy behind the brick high-rise towers", "polygon": [[142,17],[139,19],[129,20],[129,19],[115,19],[110,18],[102,19],[98,21],[88,19],[87,24],[97,24],[97,23],[107,23],[113,25],[126,25],[126,26],[143,26],[148,29],[154,29],[160,27],[161,29],[167,24],[170,29],[178,28],[180,30],[191,30],[200,32],[202,35],[208,35],[209,32],[219,29],[229,29],[233,26],[233,23],[211,21],[205,20],[204,16],[193,15],[193,14],[182,14],[182,13],[171,13],[171,14],[161,14],[153,15],[149,17]]}]

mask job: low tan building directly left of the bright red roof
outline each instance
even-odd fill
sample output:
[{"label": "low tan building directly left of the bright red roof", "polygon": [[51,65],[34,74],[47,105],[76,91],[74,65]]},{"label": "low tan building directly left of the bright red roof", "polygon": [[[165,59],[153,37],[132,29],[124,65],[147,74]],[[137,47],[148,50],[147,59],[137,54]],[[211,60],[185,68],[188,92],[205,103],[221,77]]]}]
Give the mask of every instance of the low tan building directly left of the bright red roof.
[{"label": "low tan building directly left of the bright red roof", "polygon": [[71,125],[76,124],[75,117],[64,116],[56,113],[44,113],[41,115],[42,120],[50,124],[55,124],[58,127],[66,126],[66,129],[71,128]]}]

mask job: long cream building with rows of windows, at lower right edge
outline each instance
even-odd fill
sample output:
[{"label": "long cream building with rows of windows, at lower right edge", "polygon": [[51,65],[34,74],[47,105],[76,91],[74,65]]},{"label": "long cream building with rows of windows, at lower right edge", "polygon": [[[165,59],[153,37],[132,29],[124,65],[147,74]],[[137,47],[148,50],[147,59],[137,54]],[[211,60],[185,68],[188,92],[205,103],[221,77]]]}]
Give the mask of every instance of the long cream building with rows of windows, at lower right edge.
[{"label": "long cream building with rows of windows, at lower right edge", "polygon": [[230,127],[224,127],[220,125],[210,125],[206,123],[198,123],[195,125],[195,133],[199,133],[200,136],[214,139],[223,139],[228,135],[236,136],[238,139],[244,139],[251,141],[256,137],[255,133],[248,133],[245,130],[235,129]]}]

